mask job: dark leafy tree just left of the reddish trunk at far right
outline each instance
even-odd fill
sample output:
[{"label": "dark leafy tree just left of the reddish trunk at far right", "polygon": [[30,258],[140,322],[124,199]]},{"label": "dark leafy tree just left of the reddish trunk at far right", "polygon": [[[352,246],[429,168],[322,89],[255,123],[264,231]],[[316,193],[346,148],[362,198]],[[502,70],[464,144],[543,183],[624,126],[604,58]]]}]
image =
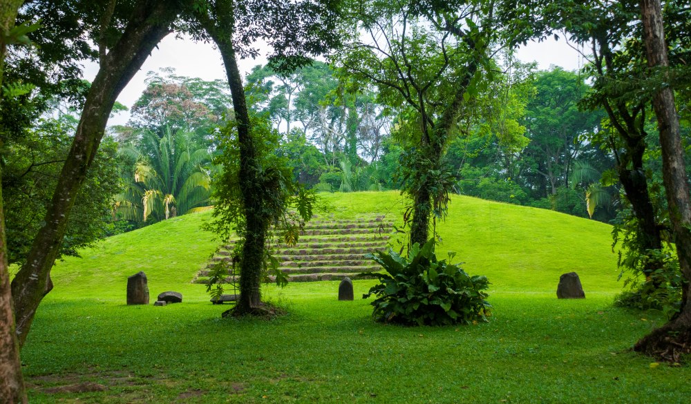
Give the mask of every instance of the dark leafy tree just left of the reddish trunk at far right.
[{"label": "dark leafy tree just left of the reddish trunk at far right", "polygon": [[592,63],[585,70],[594,84],[581,105],[601,108],[607,114],[605,130],[591,139],[607,145],[614,155],[618,180],[636,217],[634,242],[626,252],[635,257],[627,261],[641,262],[643,273],[650,277],[664,264],[660,254],[651,253],[663,248],[663,226],[656,216],[644,166],[650,94],[642,91],[641,24],[632,23],[636,1],[566,0],[548,4],[543,12],[592,52]]}]

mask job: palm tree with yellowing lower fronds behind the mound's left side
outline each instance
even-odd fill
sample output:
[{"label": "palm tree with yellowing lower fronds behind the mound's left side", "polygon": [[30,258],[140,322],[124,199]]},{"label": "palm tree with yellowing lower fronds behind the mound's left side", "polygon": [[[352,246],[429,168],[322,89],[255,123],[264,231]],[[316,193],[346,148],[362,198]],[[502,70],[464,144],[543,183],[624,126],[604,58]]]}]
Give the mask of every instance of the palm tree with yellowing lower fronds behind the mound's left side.
[{"label": "palm tree with yellowing lower fronds behind the mound's left side", "polygon": [[158,221],[207,206],[211,153],[196,146],[193,135],[165,129],[158,137],[146,131],[138,147],[124,149],[122,153],[136,163],[126,190],[115,197],[113,214],[128,220]]}]

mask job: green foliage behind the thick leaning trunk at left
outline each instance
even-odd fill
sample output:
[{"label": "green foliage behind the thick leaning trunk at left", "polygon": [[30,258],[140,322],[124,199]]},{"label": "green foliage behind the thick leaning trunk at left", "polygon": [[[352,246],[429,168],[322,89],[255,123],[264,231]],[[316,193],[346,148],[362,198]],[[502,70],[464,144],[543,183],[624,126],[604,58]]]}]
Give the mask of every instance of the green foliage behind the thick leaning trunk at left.
[{"label": "green foliage behind the thick leaning trunk at left", "polygon": [[[57,177],[72,144],[73,117],[46,118],[3,149],[3,203],[8,262],[22,264],[53,198]],[[68,219],[60,254],[75,256],[108,233],[112,195],[122,189],[116,145],[102,142]]]}]

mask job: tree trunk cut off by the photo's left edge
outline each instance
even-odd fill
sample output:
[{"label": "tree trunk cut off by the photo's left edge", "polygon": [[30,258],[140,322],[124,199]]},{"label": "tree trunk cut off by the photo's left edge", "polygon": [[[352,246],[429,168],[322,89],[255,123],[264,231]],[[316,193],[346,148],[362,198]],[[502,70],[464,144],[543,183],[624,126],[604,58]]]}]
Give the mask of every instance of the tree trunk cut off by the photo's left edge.
[{"label": "tree trunk cut off by the photo's left edge", "polygon": [[[15,26],[17,10],[23,0],[0,3],[0,31],[8,32]],[[0,37],[0,88],[2,88],[7,44]],[[0,94],[0,97],[2,95]],[[0,140],[0,148],[3,141]],[[1,174],[1,172],[0,172]],[[7,263],[5,238],[5,211],[0,182],[0,403],[26,403],[24,380],[21,375],[19,343],[15,334],[15,316],[12,313],[10,273]]]}]

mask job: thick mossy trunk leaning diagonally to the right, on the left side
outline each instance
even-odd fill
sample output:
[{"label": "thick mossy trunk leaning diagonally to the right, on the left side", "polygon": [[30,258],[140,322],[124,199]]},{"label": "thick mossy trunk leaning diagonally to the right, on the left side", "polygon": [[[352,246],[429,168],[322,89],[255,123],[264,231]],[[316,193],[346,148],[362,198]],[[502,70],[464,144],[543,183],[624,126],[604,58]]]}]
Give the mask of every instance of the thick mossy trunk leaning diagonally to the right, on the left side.
[{"label": "thick mossy trunk leaning diagonally to the right, on the left side", "polygon": [[72,148],[46,211],[45,224],[34,239],[26,264],[12,280],[20,346],[26,340],[39,303],[53,289],[50,269],[55,263],[79,187],[105,133],[115,99],[141,68],[154,46],[170,32],[171,21],[177,17],[177,7],[177,3],[163,0],[138,2],[122,37],[104,57],[91,84]]}]

